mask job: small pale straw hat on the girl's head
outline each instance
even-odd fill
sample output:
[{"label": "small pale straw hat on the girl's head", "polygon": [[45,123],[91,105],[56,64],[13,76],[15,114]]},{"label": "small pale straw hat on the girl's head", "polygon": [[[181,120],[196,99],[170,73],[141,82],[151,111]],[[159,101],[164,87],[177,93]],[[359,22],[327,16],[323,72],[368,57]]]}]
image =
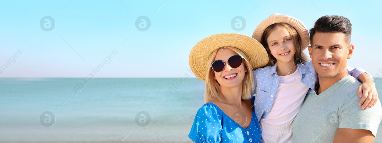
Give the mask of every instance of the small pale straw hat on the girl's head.
[{"label": "small pale straw hat on the girl's head", "polygon": [[282,15],[278,13],[274,13],[270,15],[267,19],[262,21],[253,32],[252,37],[256,39],[257,41],[260,41],[262,34],[264,33],[265,29],[275,23],[286,23],[292,26],[296,29],[298,34],[301,37],[301,49],[305,50],[309,46],[309,34],[308,29],[306,29],[303,22],[298,20],[297,18],[294,18],[292,16],[288,15]]}]

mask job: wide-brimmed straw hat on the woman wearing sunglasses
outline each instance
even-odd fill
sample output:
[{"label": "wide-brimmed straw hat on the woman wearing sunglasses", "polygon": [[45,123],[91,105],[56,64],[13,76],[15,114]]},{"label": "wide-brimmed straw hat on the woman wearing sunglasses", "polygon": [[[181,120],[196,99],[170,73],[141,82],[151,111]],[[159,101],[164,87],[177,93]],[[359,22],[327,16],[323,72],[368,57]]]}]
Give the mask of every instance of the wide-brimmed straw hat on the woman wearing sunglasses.
[{"label": "wide-brimmed straw hat on the woman wearing sunglasses", "polygon": [[252,37],[237,33],[215,34],[197,42],[190,52],[188,61],[195,76],[205,82],[207,67],[211,68],[211,63],[207,63],[209,56],[216,49],[227,46],[243,51],[248,57],[248,59],[244,60],[251,63],[252,69],[264,67],[268,64],[267,51]]}]

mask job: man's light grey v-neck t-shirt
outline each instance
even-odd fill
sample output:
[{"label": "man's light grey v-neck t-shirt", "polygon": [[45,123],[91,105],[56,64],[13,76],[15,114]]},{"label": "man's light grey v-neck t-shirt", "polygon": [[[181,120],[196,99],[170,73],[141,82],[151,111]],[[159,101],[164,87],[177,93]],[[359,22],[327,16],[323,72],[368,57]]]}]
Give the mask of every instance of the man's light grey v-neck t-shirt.
[{"label": "man's light grey v-neck t-shirt", "polygon": [[303,106],[293,121],[294,143],[331,143],[338,128],[370,130],[374,135],[382,117],[382,107],[377,104],[368,109],[358,106],[358,86],[352,76],[340,81],[317,95],[306,95]]}]

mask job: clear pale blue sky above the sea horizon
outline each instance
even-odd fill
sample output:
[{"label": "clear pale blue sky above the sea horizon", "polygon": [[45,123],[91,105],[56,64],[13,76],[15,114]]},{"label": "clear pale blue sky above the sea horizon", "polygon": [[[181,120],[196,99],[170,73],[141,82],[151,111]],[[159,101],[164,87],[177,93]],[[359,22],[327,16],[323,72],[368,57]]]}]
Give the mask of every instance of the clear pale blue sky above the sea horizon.
[{"label": "clear pale blue sky above the sea horizon", "polygon": [[[321,16],[345,16],[355,45],[348,65],[382,75],[381,5],[356,0],[1,1],[0,66],[11,64],[0,78],[183,77],[198,41],[227,32],[251,36],[273,13],[298,18],[308,29]],[[244,28],[231,26],[235,16],[245,19]],[[95,74],[92,69],[103,61]]]}]

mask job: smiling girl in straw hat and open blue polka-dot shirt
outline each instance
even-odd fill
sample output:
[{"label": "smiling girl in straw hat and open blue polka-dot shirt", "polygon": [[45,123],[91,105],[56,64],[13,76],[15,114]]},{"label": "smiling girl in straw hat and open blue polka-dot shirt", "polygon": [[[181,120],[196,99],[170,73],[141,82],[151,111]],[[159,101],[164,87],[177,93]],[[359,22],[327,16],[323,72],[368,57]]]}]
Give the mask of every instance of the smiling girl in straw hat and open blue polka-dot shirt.
[{"label": "smiling girl in straw hat and open blue polka-dot shirt", "polygon": [[[306,93],[315,92],[318,82],[311,60],[303,53],[309,45],[308,30],[298,19],[276,13],[256,27],[253,38],[264,46],[269,59],[267,67],[253,72],[256,90],[254,108],[259,119],[262,142],[290,143],[293,119]],[[363,72],[366,71],[357,68],[349,71],[349,74],[358,79]],[[359,76],[361,82],[372,81],[365,75]],[[376,92],[375,87],[372,91]],[[372,95],[377,96],[375,93]],[[370,104],[374,101],[370,101]],[[365,106],[369,104],[366,102]]]}]

